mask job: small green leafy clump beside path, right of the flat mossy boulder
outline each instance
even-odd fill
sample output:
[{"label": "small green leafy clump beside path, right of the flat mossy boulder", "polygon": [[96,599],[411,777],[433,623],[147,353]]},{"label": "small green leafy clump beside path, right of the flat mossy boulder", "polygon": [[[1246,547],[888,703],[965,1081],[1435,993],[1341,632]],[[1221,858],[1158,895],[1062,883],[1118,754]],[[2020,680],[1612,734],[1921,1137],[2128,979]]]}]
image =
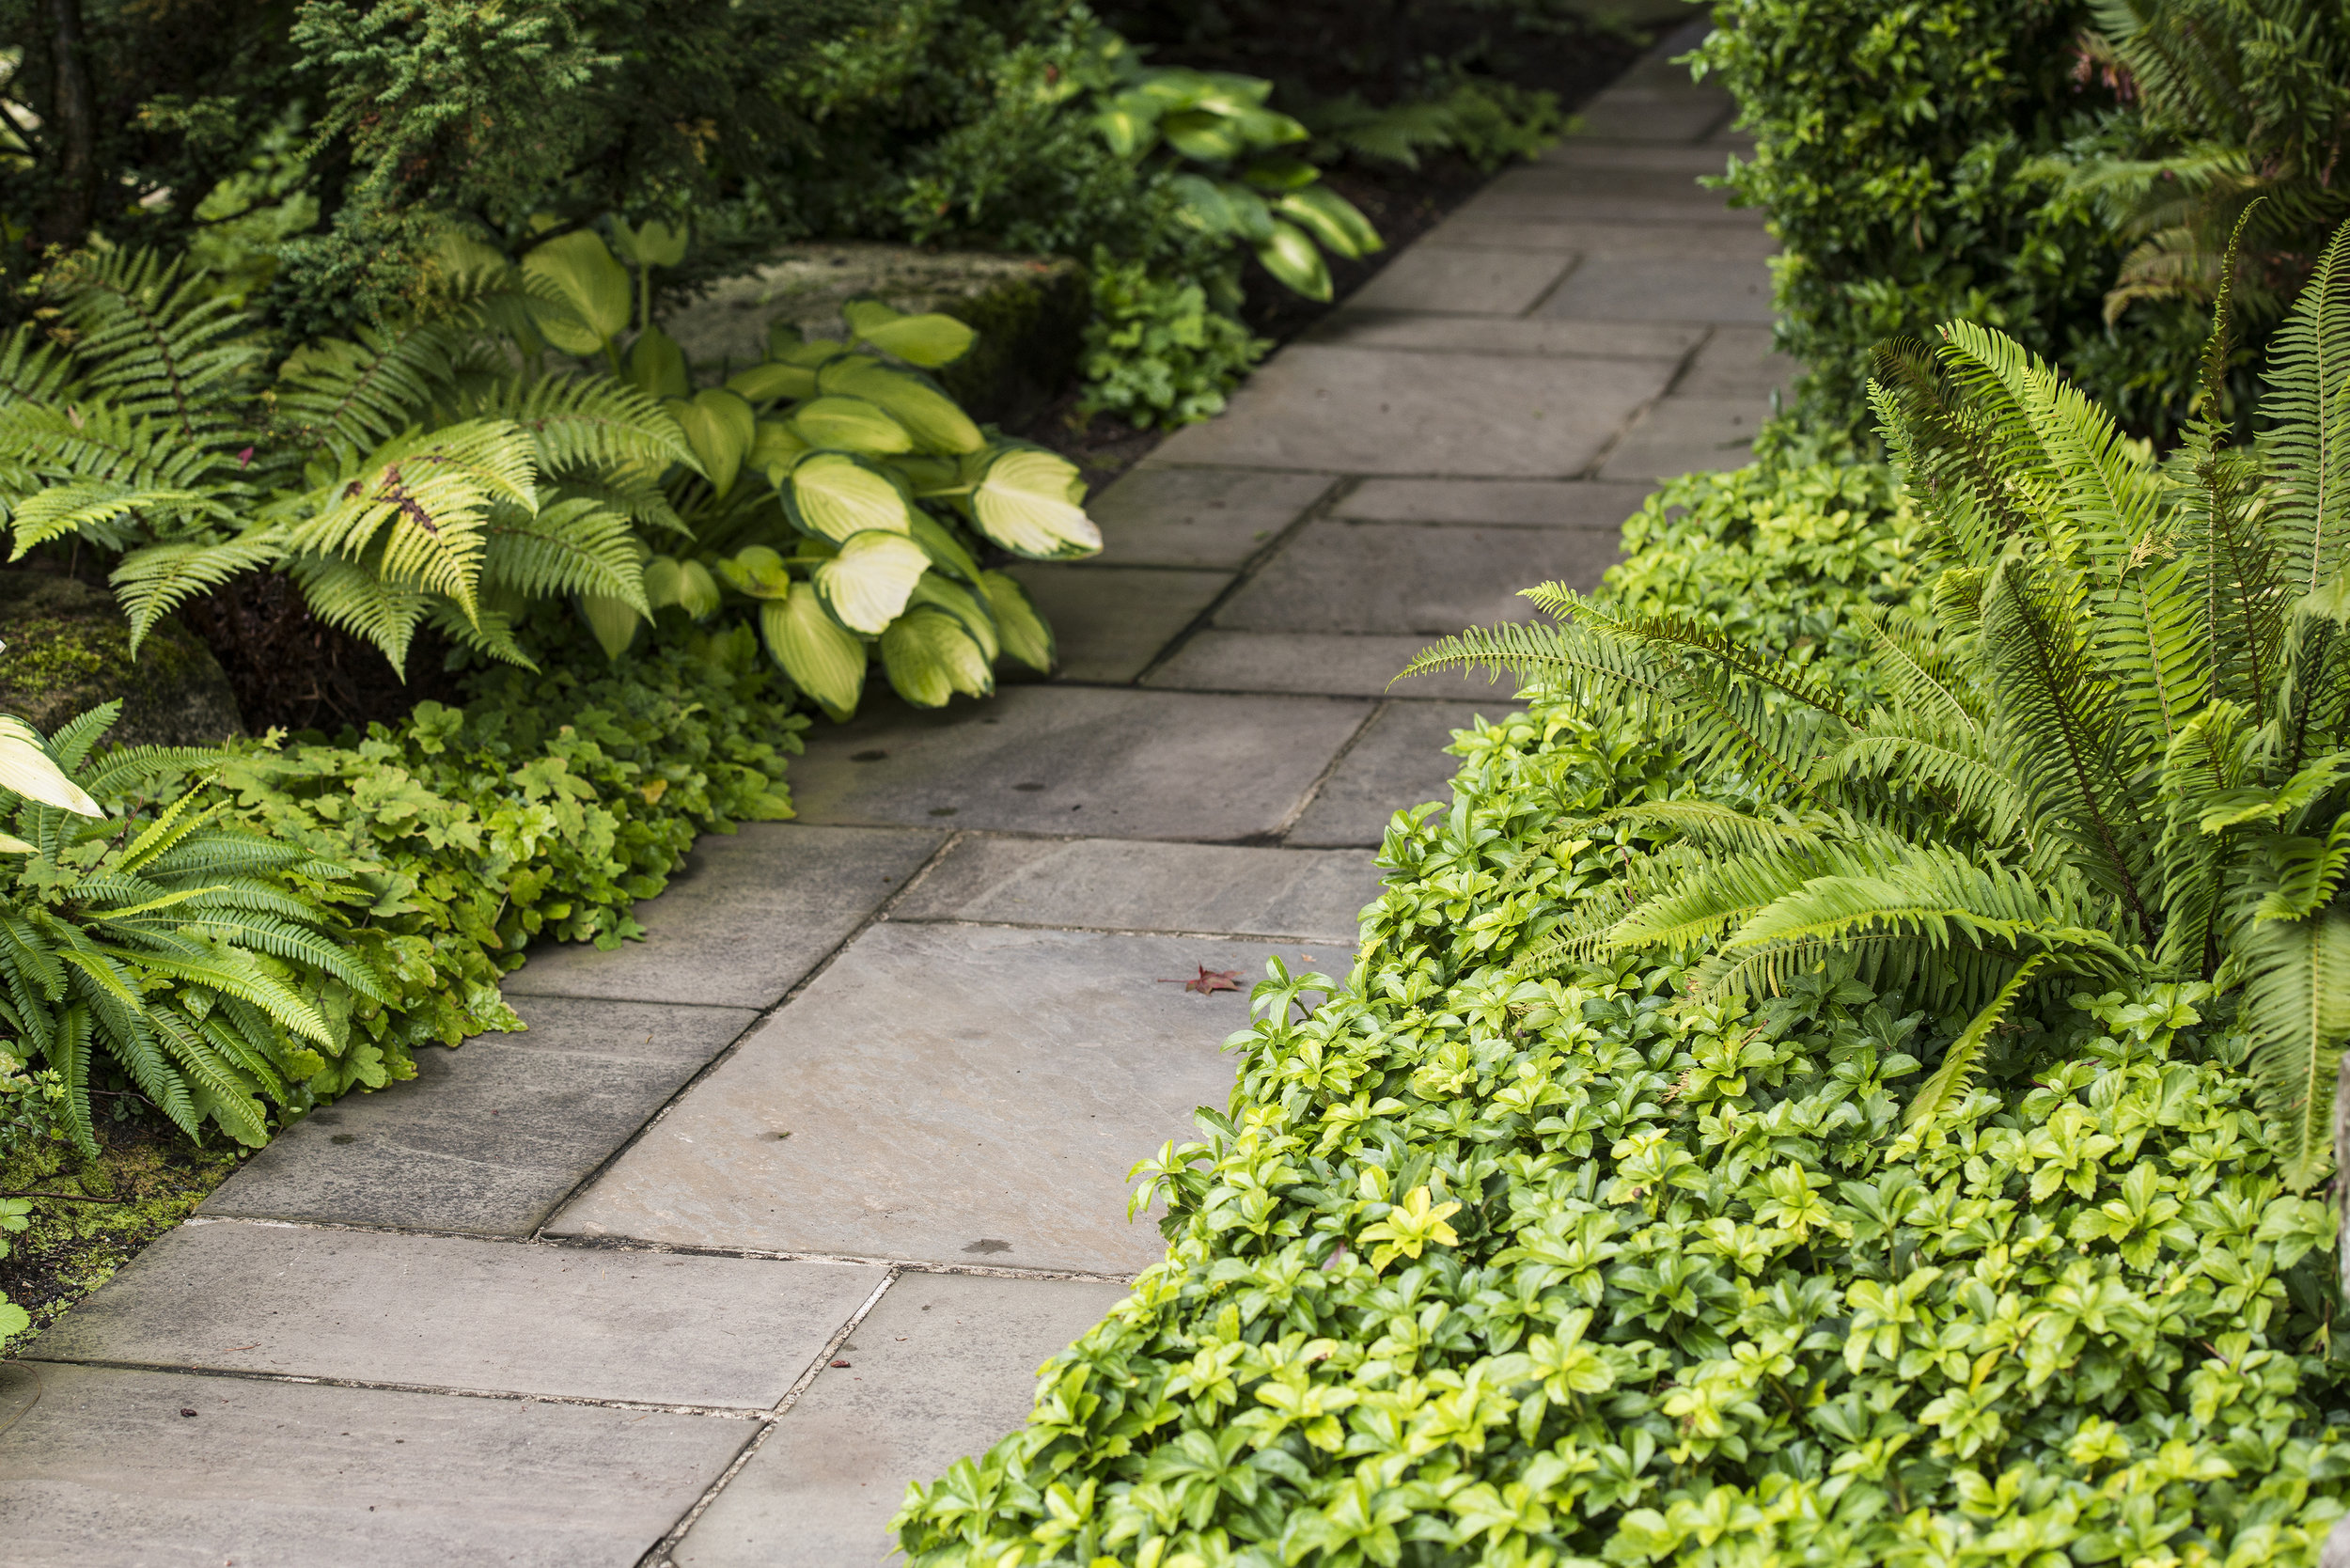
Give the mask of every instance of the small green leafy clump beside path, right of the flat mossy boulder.
[{"label": "small green leafy clump beside path, right of the flat mossy boulder", "polygon": [[1210,292],[1236,294],[1229,273],[1161,277],[1142,261],[1093,256],[1086,322],[1086,393],[1079,409],[1142,425],[1187,425],[1224,409],[1271,343],[1253,336]]}]

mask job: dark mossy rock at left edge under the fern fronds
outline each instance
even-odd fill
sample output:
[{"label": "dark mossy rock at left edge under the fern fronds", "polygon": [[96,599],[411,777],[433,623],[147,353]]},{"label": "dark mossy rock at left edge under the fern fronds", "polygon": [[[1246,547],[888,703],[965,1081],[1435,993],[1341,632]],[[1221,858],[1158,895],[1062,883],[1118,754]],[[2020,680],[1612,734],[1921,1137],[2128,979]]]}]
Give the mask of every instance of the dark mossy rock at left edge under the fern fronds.
[{"label": "dark mossy rock at left edge under the fern fronds", "polygon": [[212,745],[242,736],[212,649],[164,621],[132,658],[132,630],[101,588],[49,571],[0,571],[0,712],[49,733],[122,698],[120,745]]}]

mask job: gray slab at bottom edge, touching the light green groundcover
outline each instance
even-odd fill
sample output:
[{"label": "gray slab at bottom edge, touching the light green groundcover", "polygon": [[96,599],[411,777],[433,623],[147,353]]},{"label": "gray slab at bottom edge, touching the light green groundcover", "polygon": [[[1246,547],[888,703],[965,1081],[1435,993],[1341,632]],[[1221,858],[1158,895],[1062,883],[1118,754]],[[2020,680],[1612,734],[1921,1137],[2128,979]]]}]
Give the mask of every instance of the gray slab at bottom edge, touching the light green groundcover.
[{"label": "gray slab at bottom edge, touching the light green groundcover", "polygon": [[677,1544],[679,1568],[874,1568],[907,1481],[1027,1420],[1036,1368],[1123,1286],[905,1274]]}]

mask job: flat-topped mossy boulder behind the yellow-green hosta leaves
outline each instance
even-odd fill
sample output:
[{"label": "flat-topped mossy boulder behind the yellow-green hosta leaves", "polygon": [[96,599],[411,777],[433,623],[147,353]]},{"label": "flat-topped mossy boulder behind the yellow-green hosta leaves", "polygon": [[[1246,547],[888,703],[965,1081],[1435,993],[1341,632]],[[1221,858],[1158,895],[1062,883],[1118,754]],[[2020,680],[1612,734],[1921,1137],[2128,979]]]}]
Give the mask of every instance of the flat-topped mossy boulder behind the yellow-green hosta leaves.
[{"label": "flat-topped mossy boulder behind the yellow-green hosta leaves", "polygon": [[980,341],[938,383],[975,418],[1013,423],[1076,376],[1086,273],[1074,261],[912,244],[792,244],[747,277],[731,277],[663,327],[705,378],[766,355],[773,322],[811,339],[846,336],[841,306],[874,294],[900,310],[942,310]]}]

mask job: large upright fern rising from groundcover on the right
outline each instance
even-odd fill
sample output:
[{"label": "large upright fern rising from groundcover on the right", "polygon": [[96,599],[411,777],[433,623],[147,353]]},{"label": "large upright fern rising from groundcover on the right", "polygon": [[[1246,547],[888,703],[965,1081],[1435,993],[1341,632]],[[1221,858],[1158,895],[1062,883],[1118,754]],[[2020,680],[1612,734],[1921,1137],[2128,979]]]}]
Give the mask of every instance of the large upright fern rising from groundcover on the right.
[{"label": "large upright fern rising from groundcover on the right", "polygon": [[1932,618],[1871,628],[1878,701],[1558,585],[1532,597],[1563,625],[1424,654],[1624,698],[1748,806],[1622,811],[1685,837],[1520,971],[1706,943],[1694,990],[1737,994],[1856,957],[1972,1016],[1911,1095],[1920,1135],[2056,976],[2240,987],[2282,1173],[2324,1175],[2350,1034],[2350,240],[2275,339],[2256,449],[2211,416],[2225,355],[2223,296],[2207,416],[2157,463],[1995,331],[1885,346],[1873,400],[1943,569]]}]

